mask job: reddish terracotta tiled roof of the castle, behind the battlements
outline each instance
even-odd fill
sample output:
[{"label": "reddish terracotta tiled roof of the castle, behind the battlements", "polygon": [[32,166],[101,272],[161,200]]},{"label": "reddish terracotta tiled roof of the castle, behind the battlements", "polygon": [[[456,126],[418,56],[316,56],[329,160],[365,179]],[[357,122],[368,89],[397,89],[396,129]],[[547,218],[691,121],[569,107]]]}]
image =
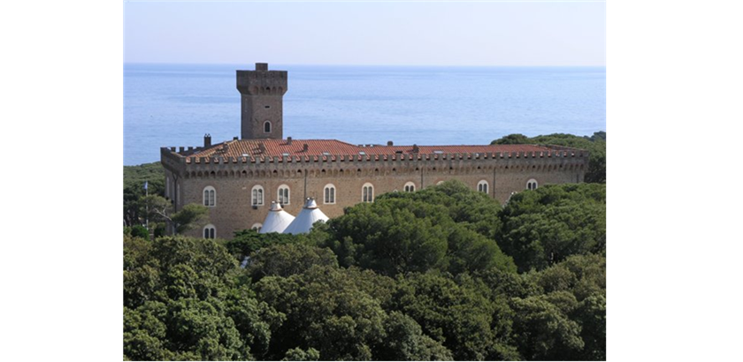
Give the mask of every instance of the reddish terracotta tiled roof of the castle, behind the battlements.
[{"label": "reddish terracotta tiled roof of the castle, behind the battlements", "polygon": [[[308,148],[305,151],[304,145]],[[257,157],[257,156],[323,156],[323,155],[431,155],[474,154],[488,152],[548,152],[553,149],[536,145],[482,145],[482,146],[379,146],[359,147],[340,140],[230,140],[206,149],[184,152],[187,157]],[[416,152],[417,151],[417,152]]]}]

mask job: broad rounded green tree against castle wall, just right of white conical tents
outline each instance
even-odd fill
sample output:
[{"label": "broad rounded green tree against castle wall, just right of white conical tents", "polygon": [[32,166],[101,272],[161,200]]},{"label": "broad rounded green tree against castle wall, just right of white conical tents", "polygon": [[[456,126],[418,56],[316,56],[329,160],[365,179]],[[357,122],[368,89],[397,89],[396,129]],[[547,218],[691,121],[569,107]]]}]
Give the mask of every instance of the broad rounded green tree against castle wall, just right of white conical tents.
[{"label": "broad rounded green tree against castle wall, just right of white conical tents", "polygon": [[330,247],[342,266],[384,275],[432,268],[455,274],[493,267],[515,270],[492,239],[500,230],[500,210],[482,192],[448,182],[349,207],[346,215],[328,222],[321,245]]}]

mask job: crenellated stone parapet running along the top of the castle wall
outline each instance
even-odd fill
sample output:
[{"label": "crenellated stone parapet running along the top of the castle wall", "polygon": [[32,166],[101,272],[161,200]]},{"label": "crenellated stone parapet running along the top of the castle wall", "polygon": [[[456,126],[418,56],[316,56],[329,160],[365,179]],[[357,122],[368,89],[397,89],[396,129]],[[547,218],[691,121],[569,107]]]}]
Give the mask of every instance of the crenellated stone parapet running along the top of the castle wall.
[{"label": "crenellated stone parapet running along the top of the castle wall", "polygon": [[184,177],[356,177],[400,172],[468,174],[485,170],[582,170],[589,155],[585,150],[565,148],[511,153],[196,157],[189,156],[198,149],[196,147],[179,147],[179,152],[175,149],[162,148],[161,158],[169,170]]}]

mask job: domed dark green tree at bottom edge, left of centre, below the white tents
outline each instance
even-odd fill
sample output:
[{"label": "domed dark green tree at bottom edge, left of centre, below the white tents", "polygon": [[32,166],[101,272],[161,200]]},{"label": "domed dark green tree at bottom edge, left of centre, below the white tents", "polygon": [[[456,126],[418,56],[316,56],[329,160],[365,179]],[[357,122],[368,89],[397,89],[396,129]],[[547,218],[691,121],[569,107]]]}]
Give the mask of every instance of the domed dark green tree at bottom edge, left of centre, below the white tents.
[{"label": "domed dark green tree at bottom edge, left of centre, below the white tents", "polygon": [[267,276],[256,284],[258,298],[287,321],[272,336],[271,356],[314,348],[326,361],[371,361],[382,343],[387,313],[344,269],[313,267],[289,277]]}]

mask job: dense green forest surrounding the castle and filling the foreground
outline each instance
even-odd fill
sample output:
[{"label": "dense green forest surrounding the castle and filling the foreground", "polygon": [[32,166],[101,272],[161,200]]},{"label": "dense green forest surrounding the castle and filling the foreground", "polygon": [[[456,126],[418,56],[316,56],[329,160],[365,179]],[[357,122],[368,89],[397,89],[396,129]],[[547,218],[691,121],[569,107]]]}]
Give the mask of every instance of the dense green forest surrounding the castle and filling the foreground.
[{"label": "dense green forest surrounding the castle and filling the foreground", "polygon": [[126,225],[127,189],[161,197],[162,170],[125,167],[124,360],[606,361],[605,139],[580,141],[603,143],[601,184],[501,206],[448,182],[300,236],[150,241]]}]

